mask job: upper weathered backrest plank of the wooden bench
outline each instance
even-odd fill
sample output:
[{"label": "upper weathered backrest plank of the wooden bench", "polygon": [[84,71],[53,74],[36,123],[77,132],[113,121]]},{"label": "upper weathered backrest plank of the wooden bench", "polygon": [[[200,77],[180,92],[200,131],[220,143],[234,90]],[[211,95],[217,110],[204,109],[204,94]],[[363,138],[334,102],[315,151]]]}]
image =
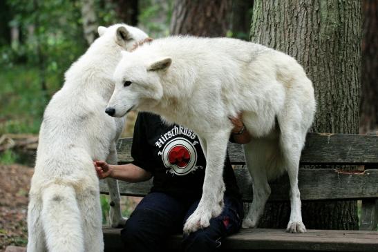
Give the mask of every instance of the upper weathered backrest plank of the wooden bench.
[{"label": "upper weathered backrest plank of the wooden bench", "polygon": [[[124,138],[117,144],[122,163],[132,161],[131,142]],[[240,144],[229,143],[228,152],[232,164],[245,163]],[[301,164],[378,164],[378,136],[309,133]]]}]

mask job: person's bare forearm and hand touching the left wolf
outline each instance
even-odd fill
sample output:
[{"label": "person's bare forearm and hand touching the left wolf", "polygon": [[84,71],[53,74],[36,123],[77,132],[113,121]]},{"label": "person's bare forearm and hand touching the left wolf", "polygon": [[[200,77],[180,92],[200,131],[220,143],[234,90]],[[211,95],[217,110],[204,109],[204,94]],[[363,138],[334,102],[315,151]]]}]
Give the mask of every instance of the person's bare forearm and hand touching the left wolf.
[{"label": "person's bare forearm and hand touching the left wolf", "polygon": [[100,179],[111,177],[126,182],[142,182],[152,177],[151,173],[135,164],[111,165],[104,161],[95,161],[93,164]]}]

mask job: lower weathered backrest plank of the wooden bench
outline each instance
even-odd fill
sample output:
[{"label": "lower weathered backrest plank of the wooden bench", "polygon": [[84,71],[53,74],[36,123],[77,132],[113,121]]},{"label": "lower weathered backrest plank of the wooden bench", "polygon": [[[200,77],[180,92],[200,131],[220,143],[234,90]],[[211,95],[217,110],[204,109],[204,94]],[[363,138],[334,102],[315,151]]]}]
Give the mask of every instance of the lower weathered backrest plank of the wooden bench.
[{"label": "lower weathered backrest plank of the wooden bench", "polygon": [[[246,168],[235,168],[236,179],[243,200],[252,201],[252,180]],[[122,195],[144,196],[149,193],[151,180],[142,183],[120,182]],[[289,199],[289,180],[284,175],[270,183],[272,187],[271,201]],[[102,193],[107,193],[106,183],[100,183]],[[360,172],[342,171],[338,169],[300,169],[299,190],[302,200],[346,200],[346,199],[378,199],[378,170]]]}]

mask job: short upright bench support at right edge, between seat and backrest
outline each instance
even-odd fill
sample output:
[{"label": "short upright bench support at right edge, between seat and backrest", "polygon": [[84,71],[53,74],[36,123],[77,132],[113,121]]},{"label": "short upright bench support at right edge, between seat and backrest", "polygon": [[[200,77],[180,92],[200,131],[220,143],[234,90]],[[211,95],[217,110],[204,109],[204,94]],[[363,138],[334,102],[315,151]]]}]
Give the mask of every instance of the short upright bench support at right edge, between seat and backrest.
[{"label": "short upright bench support at right edge, between seat and backrest", "polygon": [[360,230],[377,230],[378,200],[362,200]]}]

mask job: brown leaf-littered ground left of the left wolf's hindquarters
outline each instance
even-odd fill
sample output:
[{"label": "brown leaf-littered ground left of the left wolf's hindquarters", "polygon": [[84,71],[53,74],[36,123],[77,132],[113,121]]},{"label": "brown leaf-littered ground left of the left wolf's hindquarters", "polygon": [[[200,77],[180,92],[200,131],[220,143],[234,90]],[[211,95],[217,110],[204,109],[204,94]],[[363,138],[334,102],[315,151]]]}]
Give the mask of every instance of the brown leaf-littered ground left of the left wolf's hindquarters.
[{"label": "brown leaf-littered ground left of the left wolf's hindquarters", "polygon": [[0,252],[8,245],[26,246],[28,192],[33,169],[0,165]]}]

